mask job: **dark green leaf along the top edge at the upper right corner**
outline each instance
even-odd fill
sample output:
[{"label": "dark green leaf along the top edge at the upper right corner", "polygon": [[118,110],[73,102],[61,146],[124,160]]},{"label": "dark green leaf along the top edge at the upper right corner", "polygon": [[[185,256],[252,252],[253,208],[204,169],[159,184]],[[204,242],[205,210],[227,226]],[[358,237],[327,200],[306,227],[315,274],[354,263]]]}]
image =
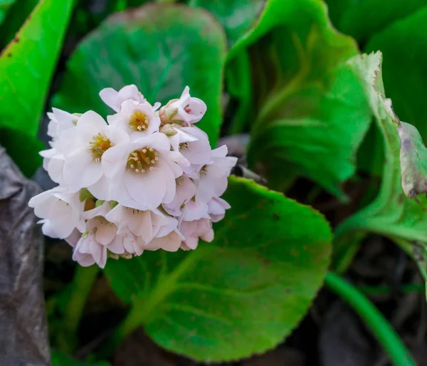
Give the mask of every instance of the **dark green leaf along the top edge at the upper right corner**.
[{"label": "dark green leaf along the top edge at the upper right corner", "polygon": [[327,0],[326,2],[330,8],[330,17],[334,26],[361,43],[386,26],[426,6],[424,0]]}]

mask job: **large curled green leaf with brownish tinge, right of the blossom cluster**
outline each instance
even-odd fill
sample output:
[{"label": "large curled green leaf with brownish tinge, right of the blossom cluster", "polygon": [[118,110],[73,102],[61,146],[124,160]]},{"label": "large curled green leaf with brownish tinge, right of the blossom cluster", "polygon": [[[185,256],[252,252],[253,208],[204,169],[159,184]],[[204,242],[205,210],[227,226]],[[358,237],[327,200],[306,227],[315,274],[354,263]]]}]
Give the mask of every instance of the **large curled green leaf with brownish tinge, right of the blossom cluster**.
[{"label": "large curled green leaf with brownish tinge, right of the blossom cluster", "polygon": [[345,63],[357,46],[332,28],[322,1],[301,0],[269,1],[258,27],[235,47],[268,26],[250,48],[259,113],[248,162],[265,169],[269,182],[280,165],[343,197],[339,184],[354,174],[371,120],[359,75]]}]

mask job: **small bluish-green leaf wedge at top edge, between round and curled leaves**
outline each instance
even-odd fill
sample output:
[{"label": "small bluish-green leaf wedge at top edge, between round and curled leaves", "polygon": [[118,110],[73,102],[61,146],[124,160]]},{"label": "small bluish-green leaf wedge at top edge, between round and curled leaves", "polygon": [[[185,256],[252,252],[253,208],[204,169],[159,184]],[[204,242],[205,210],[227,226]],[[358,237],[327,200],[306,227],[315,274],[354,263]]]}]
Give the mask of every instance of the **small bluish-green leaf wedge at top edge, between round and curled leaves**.
[{"label": "small bluish-green leaf wedge at top edge, between round and curled leaves", "polygon": [[266,0],[190,0],[191,6],[211,11],[226,31],[228,47],[251,31]]}]

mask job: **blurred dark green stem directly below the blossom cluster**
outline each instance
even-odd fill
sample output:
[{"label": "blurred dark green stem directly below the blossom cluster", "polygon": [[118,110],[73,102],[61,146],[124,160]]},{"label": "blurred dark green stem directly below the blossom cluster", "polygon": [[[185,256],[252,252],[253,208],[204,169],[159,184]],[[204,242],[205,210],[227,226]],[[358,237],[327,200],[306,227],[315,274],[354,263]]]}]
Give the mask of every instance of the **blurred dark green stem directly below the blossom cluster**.
[{"label": "blurred dark green stem directly below the blossom cluster", "polygon": [[58,335],[58,347],[70,354],[77,342],[77,330],[83,315],[83,308],[95,282],[99,267],[76,266],[72,283],[70,283],[70,299],[63,317],[63,332]]}]

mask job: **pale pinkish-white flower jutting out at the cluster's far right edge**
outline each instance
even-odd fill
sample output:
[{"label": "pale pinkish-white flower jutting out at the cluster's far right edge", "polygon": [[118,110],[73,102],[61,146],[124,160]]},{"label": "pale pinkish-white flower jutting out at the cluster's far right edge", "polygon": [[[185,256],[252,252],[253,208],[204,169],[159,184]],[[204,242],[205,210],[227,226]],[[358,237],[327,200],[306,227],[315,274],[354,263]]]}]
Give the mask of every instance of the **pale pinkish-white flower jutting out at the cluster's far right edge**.
[{"label": "pale pinkish-white flower jutting out at the cluster's far right edge", "polygon": [[236,157],[226,156],[227,152],[226,145],[212,150],[211,164],[206,164],[199,172],[196,202],[207,203],[226,191],[228,176],[237,162]]}]

